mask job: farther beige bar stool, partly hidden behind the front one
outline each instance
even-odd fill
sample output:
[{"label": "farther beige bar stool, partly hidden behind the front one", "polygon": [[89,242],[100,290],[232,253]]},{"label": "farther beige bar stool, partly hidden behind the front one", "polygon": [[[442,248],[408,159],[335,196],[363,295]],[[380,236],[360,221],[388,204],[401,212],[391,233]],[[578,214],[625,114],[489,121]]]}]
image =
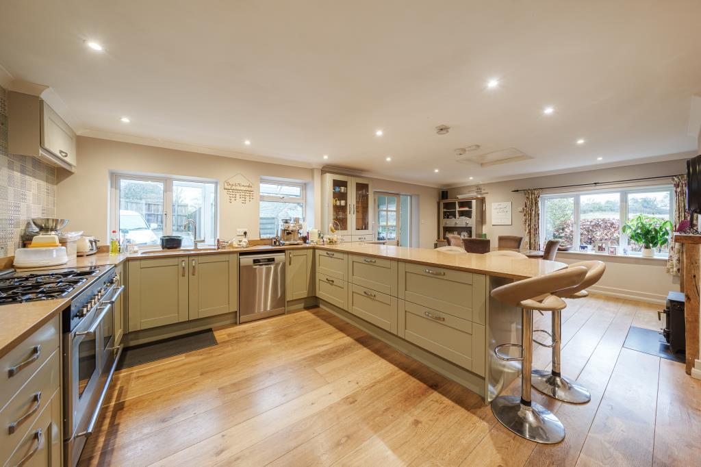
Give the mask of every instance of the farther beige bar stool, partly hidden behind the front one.
[{"label": "farther beige bar stool, partly hidden behind the front one", "polygon": [[[589,295],[585,289],[599,282],[601,276],[606,271],[606,264],[601,261],[583,261],[569,265],[568,269],[587,269],[587,275],[582,283],[567,287],[557,292],[552,292],[556,297],[566,299],[584,298]],[[562,376],[560,374],[561,363],[560,351],[562,350],[562,313],[560,310],[552,311],[552,370],[533,370],[533,387],[551,398],[570,402],[572,404],[585,404],[592,400],[592,394],[587,388],[578,384],[576,381]]]}]

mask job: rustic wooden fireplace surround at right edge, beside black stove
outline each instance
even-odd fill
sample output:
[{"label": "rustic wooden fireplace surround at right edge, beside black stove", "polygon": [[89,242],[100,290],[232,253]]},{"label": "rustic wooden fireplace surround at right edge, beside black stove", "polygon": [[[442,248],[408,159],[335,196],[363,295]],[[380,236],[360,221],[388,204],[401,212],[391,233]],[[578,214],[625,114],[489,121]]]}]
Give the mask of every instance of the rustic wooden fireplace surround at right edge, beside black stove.
[{"label": "rustic wooden fireplace surround at right edge, beside black stove", "polygon": [[682,267],[680,285],[684,292],[684,325],[686,328],[686,374],[691,374],[695,360],[699,358],[699,284],[701,270],[699,259],[701,255],[701,236],[674,236],[675,243],[682,243]]}]

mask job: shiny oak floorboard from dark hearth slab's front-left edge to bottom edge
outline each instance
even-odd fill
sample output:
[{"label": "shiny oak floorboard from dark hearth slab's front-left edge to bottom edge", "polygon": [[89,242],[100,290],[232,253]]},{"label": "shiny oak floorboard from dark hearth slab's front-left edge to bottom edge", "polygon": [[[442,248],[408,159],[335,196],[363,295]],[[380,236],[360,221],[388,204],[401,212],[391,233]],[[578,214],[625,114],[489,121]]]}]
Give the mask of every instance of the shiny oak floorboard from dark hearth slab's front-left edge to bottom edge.
[{"label": "shiny oak floorboard from dark hearth slab's front-left edge to bottom edge", "polygon": [[650,466],[660,358],[622,348],[578,466]]}]

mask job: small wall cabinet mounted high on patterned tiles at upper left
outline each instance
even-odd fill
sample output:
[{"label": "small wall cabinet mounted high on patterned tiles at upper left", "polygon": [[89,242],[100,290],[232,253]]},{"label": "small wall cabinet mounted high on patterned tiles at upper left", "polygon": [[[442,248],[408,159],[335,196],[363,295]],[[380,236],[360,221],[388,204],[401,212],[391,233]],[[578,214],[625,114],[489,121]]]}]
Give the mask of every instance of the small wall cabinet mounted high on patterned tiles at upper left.
[{"label": "small wall cabinet mounted high on patterned tiles at upper left", "polygon": [[8,151],[74,171],[76,134],[41,97],[8,93]]}]

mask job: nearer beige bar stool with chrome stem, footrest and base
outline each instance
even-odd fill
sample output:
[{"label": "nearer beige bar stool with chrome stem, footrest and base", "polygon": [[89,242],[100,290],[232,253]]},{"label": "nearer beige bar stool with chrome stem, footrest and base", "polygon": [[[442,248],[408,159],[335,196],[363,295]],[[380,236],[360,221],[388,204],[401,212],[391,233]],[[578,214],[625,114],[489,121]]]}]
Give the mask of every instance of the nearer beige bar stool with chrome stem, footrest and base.
[{"label": "nearer beige bar stool with chrome stem, footrest and base", "polygon": [[[505,361],[521,361],[521,398],[500,395],[491,402],[494,417],[510,431],[528,440],[554,444],[564,440],[565,428],[557,417],[542,405],[531,402],[531,364],[533,362],[533,310],[554,311],[566,308],[560,297],[552,295],[556,290],[576,287],[584,280],[587,269],[574,267],[545,276],[519,280],[491,291],[499,302],[522,309],[521,336],[523,344],[501,344],[494,348],[497,358]],[[554,343],[553,343],[554,344]],[[504,347],[522,348],[521,357],[503,356]]]}]

